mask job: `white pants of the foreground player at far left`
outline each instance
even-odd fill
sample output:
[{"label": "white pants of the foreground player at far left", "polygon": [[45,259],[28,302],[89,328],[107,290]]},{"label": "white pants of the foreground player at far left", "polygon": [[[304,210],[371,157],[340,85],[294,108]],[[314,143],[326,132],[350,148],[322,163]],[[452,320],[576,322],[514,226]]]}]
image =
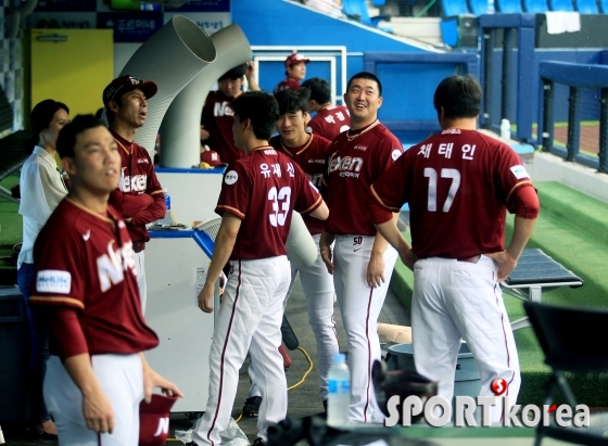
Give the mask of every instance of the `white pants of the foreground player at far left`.
[{"label": "white pants of the foreground player at far left", "polygon": [[59,356],[47,362],[45,402],[53,416],[61,446],[137,446],[139,404],[143,399],[141,358],[134,355],[93,355],[94,374],[112,404],[114,430],[97,434],[87,428],[83,415],[83,393],[63,367]]}]

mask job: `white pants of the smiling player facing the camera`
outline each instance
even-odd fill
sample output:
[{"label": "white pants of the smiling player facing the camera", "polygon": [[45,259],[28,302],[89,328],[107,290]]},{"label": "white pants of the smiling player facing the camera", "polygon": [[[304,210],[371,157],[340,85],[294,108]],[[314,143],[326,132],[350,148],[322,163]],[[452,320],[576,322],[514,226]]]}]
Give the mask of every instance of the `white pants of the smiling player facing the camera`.
[{"label": "white pants of the smiling player facing the camera", "polygon": [[384,253],[384,283],[380,288],[367,284],[367,265],[373,246],[373,235],[339,235],[333,249],[333,284],[349,342],[351,369],[351,422],[381,423],[384,415],[378,407],[371,366],[380,360],[378,316],[387,297],[397,252],[389,246]]}]

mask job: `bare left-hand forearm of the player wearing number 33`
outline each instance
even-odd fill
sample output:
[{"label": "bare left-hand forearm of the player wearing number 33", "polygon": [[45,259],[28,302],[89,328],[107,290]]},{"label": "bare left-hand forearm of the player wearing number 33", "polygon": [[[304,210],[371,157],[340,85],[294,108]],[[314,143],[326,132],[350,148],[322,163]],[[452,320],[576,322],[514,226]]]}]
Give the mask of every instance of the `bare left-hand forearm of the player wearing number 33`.
[{"label": "bare left-hand forearm of the player wearing number 33", "polygon": [[239,217],[228,212],[225,212],[221,216],[221,225],[215,238],[215,246],[213,249],[207,278],[203,289],[199,293],[199,308],[205,313],[213,311],[212,301],[215,281],[219,277],[224,266],[228,263],[230,254],[232,254],[241,222],[242,220]]}]

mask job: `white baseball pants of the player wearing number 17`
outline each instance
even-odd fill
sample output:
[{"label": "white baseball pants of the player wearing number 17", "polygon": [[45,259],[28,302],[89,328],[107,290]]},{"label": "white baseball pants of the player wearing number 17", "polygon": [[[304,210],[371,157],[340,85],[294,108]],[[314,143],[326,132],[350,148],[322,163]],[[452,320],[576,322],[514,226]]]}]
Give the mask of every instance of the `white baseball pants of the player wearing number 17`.
[{"label": "white baseball pants of the player wearing number 17", "polygon": [[[493,259],[477,264],[430,257],[414,267],[411,339],[418,373],[439,380],[439,395],[452,400],[460,339],[479,368],[481,396],[494,396],[491,384],[503,378],[505,396],[517,400],[521,378],[519,359]],[[492,422],[501,421],[503,399],[492,408]]]}]

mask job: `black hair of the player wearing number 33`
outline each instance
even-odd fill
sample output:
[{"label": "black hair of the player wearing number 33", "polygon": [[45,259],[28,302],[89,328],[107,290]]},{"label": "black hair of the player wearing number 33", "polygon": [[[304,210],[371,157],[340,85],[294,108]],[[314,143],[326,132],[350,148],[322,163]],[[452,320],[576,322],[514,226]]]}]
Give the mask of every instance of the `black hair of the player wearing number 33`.
[{"label": "black hair of the player wearing number 33", "polygon": [[279,104],[273,94],[265,91],[248,91],[235,99],[230,107],[241,123],[245,119],[251,122],[257,139],[270,139],[279,118]]}]

